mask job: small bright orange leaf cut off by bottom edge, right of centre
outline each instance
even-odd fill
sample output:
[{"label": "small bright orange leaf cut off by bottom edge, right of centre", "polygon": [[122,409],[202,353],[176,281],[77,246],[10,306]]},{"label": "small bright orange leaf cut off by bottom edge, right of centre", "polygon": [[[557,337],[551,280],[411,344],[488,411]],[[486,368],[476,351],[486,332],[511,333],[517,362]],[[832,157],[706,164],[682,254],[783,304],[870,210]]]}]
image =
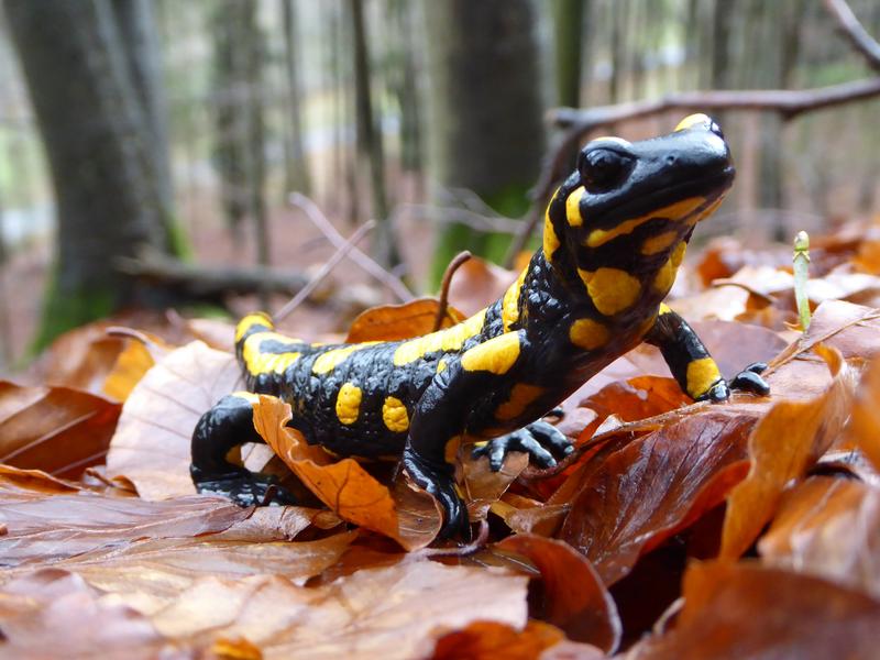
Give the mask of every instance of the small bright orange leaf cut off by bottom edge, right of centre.
[{"label": "small bright orange leaf cut off by bottom edge, right of centre", "polygon": [[534,660],[564,639],[553,626],[529,622],[524,630],[506,624],[475,622],[437,640],[432,660]]}]

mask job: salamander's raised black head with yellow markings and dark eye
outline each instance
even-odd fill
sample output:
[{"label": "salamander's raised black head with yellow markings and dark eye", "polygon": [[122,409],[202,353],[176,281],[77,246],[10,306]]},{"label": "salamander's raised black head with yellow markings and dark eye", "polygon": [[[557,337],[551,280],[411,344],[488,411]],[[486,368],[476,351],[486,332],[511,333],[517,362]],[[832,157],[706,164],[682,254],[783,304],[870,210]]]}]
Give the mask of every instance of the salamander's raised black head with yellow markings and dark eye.
[{"label": "salamander's raised black head with yellow markings and dark eye", "polygon": [[651,140],[594,140],[548,207],[544,256],[573,284],[613,268],[664,296],[694,226],[718,207],[734,174],[724,134],[705,114]]}]

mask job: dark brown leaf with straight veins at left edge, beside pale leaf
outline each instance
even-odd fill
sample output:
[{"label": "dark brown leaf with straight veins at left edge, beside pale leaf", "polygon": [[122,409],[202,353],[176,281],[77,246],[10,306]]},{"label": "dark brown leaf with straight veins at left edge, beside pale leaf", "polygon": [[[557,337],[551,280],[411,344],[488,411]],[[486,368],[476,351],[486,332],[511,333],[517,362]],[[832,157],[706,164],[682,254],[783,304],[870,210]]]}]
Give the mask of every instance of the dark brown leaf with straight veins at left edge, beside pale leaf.
[{"label": "dark brown leaf with straight veins at left edge, beside pale leaf", "polygon": [[0,381],[0,462],[79,477],[103,461],[119,411],[87,392]]}]

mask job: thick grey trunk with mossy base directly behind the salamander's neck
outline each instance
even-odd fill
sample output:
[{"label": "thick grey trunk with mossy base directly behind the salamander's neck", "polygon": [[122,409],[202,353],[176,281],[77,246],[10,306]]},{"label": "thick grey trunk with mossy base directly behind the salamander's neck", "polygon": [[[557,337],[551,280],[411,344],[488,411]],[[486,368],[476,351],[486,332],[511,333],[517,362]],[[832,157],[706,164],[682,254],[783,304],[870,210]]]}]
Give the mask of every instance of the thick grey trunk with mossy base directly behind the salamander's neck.
[{"label": "thick grey trunk with mossy base directly behind the salamander's neck", "polygon": [[[427,0],[424,7],[435,199],[465,188],[499,213],[521,216],[544,144],[532,3]],[[435,283],[458,251],[501,258],[508,242],[462,224],[444,229]]]}]

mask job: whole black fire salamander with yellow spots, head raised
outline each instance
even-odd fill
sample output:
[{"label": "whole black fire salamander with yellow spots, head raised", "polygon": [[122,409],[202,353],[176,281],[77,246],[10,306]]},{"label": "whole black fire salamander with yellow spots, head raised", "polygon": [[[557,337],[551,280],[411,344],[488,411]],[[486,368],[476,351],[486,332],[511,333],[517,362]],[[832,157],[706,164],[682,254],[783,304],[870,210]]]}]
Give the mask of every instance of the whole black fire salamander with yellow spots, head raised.
[{"label": "whole black fire salamander with yellow spots, head raised", "polygon": [[[458,326],[406,341],[315,345],[276,333],[263,314],[246,316],[235,350],[250,393],[224,397],[199,420],[197,488],[241,505],[264,501],[271,479],[227,454],[261,441],[251,393],[272,394],[290,404],[290,426],[311,443],[341,455],[403,455],[409,476],[442,505],[443,535],[468,538],[453,479],[460,443],[475,443],[494,470],[510,451],[556,464],[572,447],[541,417],[642,341],[659,346],[694,399],[722,402],[730,388],[767,394],[765,365],[728,385],[691,327],[662,302],[694,227],[733,179],[727,143],[705,114],[642,142],[601,138],[553,195],[543,245],[519,278]],[[292,502],[280,488],[270,495]]]}]

